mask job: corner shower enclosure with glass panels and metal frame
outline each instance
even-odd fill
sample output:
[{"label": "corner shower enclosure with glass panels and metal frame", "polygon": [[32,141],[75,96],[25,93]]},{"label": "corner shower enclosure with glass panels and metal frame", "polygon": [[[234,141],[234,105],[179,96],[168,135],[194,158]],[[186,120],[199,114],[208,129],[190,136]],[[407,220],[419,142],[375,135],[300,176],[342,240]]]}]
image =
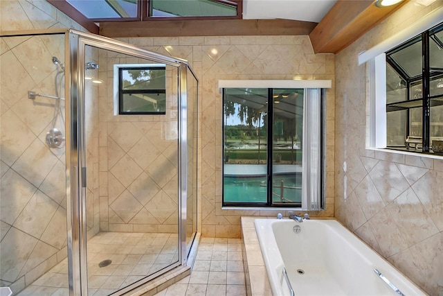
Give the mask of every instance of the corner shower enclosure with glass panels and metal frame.
[{"label": "corner shower enclosure with glass panels and metal frame", "polygon": [[123,295],[185,266],[197,233],[188,62],[67,29],[0,40],[0,285]]}]

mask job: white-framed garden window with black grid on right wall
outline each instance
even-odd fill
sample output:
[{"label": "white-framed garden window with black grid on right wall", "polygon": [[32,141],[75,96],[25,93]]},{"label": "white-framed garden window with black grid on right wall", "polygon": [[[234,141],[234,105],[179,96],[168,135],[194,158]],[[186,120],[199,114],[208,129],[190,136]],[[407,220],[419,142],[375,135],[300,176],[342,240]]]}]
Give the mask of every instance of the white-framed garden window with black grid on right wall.
[{"label": "white-framed garden window with black grid on right wall", "polygon": [[369,148],[443,153],[443,8],[359,54],[368,62]]}]

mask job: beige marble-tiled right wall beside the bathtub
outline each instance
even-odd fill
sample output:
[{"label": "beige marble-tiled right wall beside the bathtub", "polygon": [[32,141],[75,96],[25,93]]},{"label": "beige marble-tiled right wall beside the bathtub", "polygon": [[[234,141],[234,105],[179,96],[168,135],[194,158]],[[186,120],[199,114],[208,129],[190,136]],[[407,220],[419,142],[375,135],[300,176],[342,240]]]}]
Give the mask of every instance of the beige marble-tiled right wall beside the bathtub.
[{"label": "beige marble-tiled right wall beside the bathtub", "polygon": [[367,72],[356,57],[442,5],[410,1],[336,55],[335,216],[430,295],[443,295],[443,159],[365,149]]}]

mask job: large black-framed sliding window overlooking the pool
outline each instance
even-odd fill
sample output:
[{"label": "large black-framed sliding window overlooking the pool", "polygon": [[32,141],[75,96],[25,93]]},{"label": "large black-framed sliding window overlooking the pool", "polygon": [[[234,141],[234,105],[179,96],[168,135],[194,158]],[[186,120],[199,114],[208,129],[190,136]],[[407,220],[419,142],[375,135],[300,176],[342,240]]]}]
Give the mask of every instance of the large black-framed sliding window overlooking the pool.
[{"label": "large black-framed sliding window overlooking the pool", "polygon": [[223,89],[224,206],[320,209],[323,92],[315,90]]}]

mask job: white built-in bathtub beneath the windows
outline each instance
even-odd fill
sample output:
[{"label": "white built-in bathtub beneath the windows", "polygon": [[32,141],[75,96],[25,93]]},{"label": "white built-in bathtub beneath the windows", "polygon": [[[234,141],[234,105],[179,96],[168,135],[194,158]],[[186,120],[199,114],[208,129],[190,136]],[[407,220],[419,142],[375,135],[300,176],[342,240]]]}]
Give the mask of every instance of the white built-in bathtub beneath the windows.
[{"label": "white built-in bathtub beneath the windows", "polygon": [[256,219],[255,229],[274,296],[291,295],[284,268],[295,295],[401,295],[374,269],[404,295],[426,295],[336,220]]}]

